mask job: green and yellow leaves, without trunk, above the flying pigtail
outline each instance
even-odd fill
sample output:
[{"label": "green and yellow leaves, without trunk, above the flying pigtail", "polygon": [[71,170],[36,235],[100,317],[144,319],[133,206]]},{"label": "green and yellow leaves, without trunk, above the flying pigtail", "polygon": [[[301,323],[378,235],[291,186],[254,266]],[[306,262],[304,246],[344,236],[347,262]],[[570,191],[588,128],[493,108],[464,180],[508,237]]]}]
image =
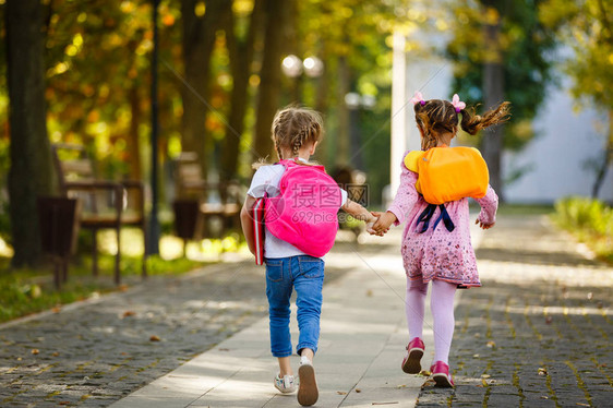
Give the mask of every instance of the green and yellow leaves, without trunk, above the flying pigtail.
[{"label": "green and yellow leaves, without trunk, above the flying pigtail", "polygon": [[506,127],[504,140],[508,148],[520,148],[533,136],[530,123],[552,80],[551,51],[555,38],[539,20],[538,7],[543,2],[459,0],[453,9],[457,22],[447,49],[455,62],[453,88],[468,105],[483,101],[483,64],[495,58],[486,46],[484,26],[501,23],[498,46],[505,100],[513,104],[513,120]]}]

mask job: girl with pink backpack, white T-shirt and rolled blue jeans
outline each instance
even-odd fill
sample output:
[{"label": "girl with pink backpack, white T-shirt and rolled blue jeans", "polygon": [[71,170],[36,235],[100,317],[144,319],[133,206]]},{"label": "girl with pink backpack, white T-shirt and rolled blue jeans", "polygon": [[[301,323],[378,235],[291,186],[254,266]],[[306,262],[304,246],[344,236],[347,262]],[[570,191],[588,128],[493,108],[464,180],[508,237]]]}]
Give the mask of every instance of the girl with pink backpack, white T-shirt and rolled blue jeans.
[{"label": "girl with pink backpack, white T-shirt and rolled blue jeans", "polygon": [[[273,141],[279,163],[259,163],[241,211],[242,229],[255,253],[251,209],[265,199],[264,260],[268,298],[271,349],[278,359],[275,387],[286,394],[298,385],[298,403],[311,406],[318,391],[313,357],[320,338],[324,260],[338,230],[340,208],[363,220],[369,230],[376,218],[325,172],[323,166],[309,163],[323,136],[320,113],[306,108],[279,110],[273,120]],[[372,231],[372,230],[370,230]],[[289,331],[290,297],[296,289],[300,336],[300,356],[296,381],[291,369],[292,345]]]}]

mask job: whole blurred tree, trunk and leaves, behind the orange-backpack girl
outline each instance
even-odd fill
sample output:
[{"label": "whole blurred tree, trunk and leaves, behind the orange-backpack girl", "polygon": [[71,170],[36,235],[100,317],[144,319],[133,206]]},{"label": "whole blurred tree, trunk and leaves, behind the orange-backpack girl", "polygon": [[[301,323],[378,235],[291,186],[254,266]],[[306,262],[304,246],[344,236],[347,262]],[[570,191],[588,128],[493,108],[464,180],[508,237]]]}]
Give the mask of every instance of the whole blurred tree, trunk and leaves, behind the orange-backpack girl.
[{"label": "whole blurred tree, trunk and leaves, behind the orange-backpack girl", "polygon": [[555,38],[539,20],[542,0],[458,0],[452,2],[453,89],[478,111],[503,100],[513,120],[484,131],[479,144],[490,168],[492,187],[504,197],[501,175],[503,147],[518,149],[530,141],[531,121],[551,81]]}]

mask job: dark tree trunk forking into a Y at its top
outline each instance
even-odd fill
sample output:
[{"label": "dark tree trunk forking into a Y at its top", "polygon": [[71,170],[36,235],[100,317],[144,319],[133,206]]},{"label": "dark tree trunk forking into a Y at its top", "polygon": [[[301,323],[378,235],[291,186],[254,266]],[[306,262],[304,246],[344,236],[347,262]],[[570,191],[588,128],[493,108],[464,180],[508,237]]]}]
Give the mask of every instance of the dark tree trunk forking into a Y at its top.
[{"label": "dark tree trunk forking into a Y at its top", "polygon": [[255,38],[260,34],[262,22],[262,0],[255,0],[251,12],[249,31],[244,39],[239,39],[235,33],[235,16],[231,3],[226,9],[225,31],[230,55],[230,70],[232,73],[232,93],[230,94],[230,113],[226,136],[221,149],[220,179],[231,180],[237,175],[240,141],[244,131],[244,116],[248,106],[249,77],[253,63]]}]

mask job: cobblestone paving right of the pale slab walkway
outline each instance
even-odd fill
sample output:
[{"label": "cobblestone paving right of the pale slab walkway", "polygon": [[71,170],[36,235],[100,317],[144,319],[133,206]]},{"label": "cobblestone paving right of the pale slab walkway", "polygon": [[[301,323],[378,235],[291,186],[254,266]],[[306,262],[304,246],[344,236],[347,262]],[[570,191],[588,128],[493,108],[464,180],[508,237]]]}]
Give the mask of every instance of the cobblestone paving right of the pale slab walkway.
[{"label": "cobblestone paving right of the pale slab walkway", "polygon": [[613,398],[605,363],[613,361],[613,269],[563,238],[533,217],[501,218],[484,232],[477,250],[483,286],[465,291],[456,308],[452,406],[467,400],[462,382],[482,374],[490,375],[489,394],[474,406],[518,406],[520,391],[524,407],[577,407],[588,404],[586,392],[592,404]]}]

